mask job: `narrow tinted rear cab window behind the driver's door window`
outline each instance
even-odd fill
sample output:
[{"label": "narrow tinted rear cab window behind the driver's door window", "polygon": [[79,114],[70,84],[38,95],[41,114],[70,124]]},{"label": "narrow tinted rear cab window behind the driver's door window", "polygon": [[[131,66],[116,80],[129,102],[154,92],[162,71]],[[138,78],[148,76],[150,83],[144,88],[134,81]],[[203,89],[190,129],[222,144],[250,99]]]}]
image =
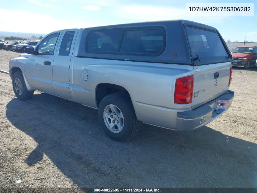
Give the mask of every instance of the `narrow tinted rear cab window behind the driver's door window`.
[{"label": "narrow tinted rear cab window behind the driver's door window", "polygon": [[59,50],[59,55],[70,55],[71,43],[74,38],[75,31],[66,31]]}]

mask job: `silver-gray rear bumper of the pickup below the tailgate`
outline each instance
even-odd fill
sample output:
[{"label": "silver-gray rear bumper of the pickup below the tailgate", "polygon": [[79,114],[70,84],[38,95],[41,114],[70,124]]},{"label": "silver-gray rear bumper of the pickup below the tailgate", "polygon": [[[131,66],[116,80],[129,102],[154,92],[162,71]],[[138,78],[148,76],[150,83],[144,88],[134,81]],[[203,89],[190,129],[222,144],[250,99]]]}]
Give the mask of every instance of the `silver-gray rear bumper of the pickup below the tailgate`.
[{"label": "silver-gray rear bumper of the pickup below the tailgate", "polygon": [[[234,98],[234,91],[221,95],[196,109],[177,113],[177,130],[189,131],[210,123],[221,116],[230,106]],[[217,108],[218,104],[221,104]],[[226,104],[225,107],[222,106]]]}]

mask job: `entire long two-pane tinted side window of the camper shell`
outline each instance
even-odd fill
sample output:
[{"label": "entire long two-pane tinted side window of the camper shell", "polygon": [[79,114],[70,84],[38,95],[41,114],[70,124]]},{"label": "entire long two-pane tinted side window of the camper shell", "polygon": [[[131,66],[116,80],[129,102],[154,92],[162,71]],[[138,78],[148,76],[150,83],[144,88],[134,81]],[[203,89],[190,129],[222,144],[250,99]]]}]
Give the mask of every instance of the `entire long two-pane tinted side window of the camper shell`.
[{"label": "entire long two-pane tinted side window of the camper shell", "polygon": [[159,55],[164,49],[164,40],[164,31],[161,28],[94,30],[88,34],[87,51],[105,54],[110,52],[125,55]]}]

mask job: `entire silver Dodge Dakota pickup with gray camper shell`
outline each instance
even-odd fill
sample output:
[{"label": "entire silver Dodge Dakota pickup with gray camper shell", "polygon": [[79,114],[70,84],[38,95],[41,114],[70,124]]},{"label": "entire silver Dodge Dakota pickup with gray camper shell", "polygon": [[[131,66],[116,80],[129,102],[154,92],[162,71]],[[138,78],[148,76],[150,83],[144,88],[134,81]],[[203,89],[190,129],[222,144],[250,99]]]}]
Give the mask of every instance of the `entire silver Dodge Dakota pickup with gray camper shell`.
[{"label": "entire silver Dodge Dakota pickup with gray camper shell", "polygon": [[20,100],[39,90],[98,109],[105,133],[134,137],[141,123],[189,131],[230,106],[231,54],[219,32],[186,20],[67,29],[9,61]]}]

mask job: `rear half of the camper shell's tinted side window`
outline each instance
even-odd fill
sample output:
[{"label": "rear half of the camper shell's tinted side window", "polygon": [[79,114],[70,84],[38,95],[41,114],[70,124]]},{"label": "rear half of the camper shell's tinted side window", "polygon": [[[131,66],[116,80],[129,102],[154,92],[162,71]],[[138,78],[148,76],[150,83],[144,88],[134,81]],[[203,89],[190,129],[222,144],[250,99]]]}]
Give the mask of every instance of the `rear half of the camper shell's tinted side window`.
[{"label": "rear half of the camper shell's tinted side window", "polygon": [[159,54],[163,48],[163,31],[131,30],[125,31],[120,48],[122,53]]}]

